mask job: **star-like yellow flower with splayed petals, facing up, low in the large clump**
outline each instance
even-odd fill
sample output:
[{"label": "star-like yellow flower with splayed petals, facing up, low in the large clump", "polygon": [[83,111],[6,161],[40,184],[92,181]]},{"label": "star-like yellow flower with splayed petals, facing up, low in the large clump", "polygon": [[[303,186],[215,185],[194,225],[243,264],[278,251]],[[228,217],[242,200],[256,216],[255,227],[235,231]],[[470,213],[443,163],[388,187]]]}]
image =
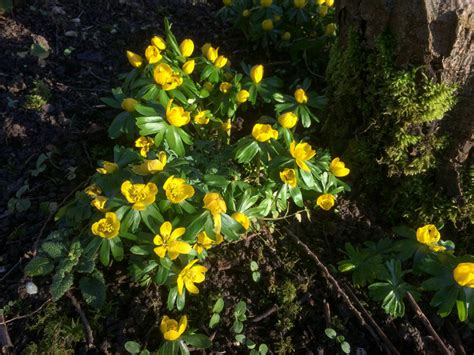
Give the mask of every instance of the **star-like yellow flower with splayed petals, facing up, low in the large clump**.
[{"label": "star-like yellow flower with splayed petals, facing up, low in the large clump", "polygon": [[185,232],[186,228],[179,227],[173,230],[171,222],[164,222],[160,226],[160,234],[153,238],[153,244],[157,246],[153,251],[160,258],[164,258],[168,253],[171,260],[175,260],[179,254],[189,254],[192,250],[191,246],[182,240],[177,240]]}]

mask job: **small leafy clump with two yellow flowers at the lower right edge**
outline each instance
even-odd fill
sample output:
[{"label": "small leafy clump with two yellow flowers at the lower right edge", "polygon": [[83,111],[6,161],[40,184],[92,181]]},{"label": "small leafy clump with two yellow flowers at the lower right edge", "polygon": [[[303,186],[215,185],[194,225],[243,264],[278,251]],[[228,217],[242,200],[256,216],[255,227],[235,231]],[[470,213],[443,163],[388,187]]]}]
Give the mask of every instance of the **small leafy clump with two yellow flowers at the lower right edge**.
[{"label": "small leafy clump with two yellow flowers at the lower right edge", "polygon": [[347,243],[347,259],[339,270],[352,272],[354,285],[368,287],[369,296],[392,317],[405,314],[408,293],[415,299],[430,295],[430,305],[441,317],[455,307],[459,320],[473,328],[474,257],[454,255],[454,243],[442,240],[433,224],[416,232],[403,226],[394,231],[403,239],[384,238],[361,247]]}]

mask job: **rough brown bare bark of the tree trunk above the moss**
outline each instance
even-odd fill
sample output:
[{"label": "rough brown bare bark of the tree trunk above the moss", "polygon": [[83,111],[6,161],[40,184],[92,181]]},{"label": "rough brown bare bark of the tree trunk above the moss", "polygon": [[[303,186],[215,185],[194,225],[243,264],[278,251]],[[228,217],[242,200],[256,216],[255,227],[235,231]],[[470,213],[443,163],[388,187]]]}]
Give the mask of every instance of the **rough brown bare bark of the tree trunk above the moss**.
[{"label": "rough brown bare bark of the tree trunk above the moss", "polygon": [[397,65],[426,65],[438,80],[458,85],[458,102],[442,121],[450,144],[438,183],[450,196],[462,197],[461,174],[474,129],[472,0],[336,0],[336,10],[343,43],[354,29],[371,48],[388,29],[395,38]]}]

